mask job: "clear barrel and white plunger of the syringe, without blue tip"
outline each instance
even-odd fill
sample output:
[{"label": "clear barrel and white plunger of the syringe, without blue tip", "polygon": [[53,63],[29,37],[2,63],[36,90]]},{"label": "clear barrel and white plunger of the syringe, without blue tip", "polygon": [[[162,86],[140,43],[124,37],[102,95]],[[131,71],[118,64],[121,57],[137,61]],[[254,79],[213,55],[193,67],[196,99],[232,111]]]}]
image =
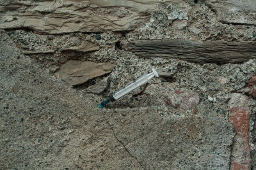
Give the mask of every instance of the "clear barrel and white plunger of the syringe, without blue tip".
[{"label": "clear barrel and white plunger of the syringe, without blue tip", "polygon": [[118,92],[115,92],[113,94],[114,99],[119,99],[122,96],[125,96],[125,94],[128,94],[132,90],[136,89],[137,87],[140,87],[141,85],[145,83],[150,83],[150,79],[153,78],[154,76],[158,77],[158,74],[155,69],[152,69],[152,73],[149,74],[144,74],[137,80],[135,80],[133,83],[127,85],[127,87],[124,87],[123,89],[119,90]]}]

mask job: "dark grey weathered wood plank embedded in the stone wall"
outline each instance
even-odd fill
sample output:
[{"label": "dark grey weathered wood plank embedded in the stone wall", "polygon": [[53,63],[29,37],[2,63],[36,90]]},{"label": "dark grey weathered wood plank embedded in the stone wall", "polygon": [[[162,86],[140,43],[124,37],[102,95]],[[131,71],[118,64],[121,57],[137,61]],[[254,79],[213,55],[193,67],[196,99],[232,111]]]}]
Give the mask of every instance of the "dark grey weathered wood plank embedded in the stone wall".
[{"label": "dark grey weathered wood plank embedded in the stone wall", "polygon": [[256,42],[137,40],[127,50],[141,57],[166,57],[191,62],[238,63],[256,58]]}]

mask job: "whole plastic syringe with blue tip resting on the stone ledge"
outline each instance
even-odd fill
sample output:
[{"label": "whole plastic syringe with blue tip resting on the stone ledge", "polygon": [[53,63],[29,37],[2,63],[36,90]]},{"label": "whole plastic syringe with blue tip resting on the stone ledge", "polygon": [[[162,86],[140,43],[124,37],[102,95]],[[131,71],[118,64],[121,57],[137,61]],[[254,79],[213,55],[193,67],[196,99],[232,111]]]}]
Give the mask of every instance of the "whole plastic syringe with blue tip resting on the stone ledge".
[{"label": "whole plastic syringe with blue tip resting on the stone ledge", "polygon": [[152,79],[154,76],[158,77],[158,73],[156,69],[152,69],[152,73],[149,73],[149,74],[145,73],[143,76],[141,76],[137,80],[134,80],[131,84],[127,85],[123,89],[118,90],[117,92],[111,94],[110,96],[108,96],[106,100],[102,101],[102,103],[100,103],[98,107],[103,108],[104,106],[108,105],[110,102],[116,101],[117,99],[119,99],[122,96],[125,96],[125,94],[131,92],[137,87],[140,87],[141,85],[147,82],[150,83],[150,79]]}]

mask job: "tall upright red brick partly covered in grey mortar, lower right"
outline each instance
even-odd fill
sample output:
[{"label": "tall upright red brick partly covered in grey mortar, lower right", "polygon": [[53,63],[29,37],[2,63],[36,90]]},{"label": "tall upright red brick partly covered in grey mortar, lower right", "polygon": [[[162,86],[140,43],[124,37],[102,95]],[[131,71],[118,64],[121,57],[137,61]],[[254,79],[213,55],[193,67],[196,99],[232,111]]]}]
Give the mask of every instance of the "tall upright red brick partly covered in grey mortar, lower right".
[{"label": "tall upright red brick partly covered in grey mortar, lower right", "polygon": [[250,169],[249,130],[251,111],[248,97],[243,94],[232,94],[228,105],[230,110],[229,119],[236,131],[232,145],[230,169]]}]

